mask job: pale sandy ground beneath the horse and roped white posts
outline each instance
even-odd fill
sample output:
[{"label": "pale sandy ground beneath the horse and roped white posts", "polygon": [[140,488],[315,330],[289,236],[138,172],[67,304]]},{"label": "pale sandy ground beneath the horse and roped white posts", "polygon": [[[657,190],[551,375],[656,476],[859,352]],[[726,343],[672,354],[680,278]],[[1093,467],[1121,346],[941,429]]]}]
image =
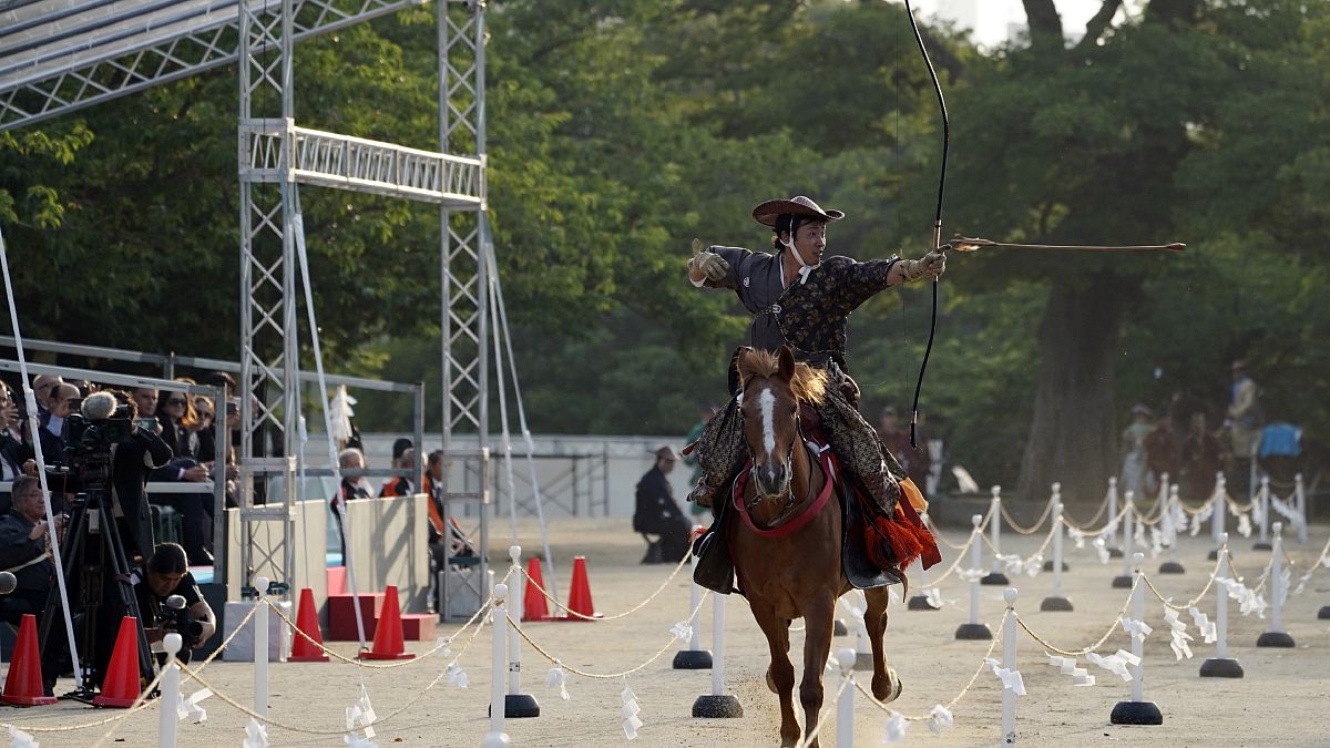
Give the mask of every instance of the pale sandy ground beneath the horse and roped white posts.
[{"label": "pale sandy ground beneath the horse and roped white posts", "polygon": [[[495,523],[496,535],[507,523]],[[521,527],[529,555],[539,547],[533,524]],[[1330,527],[1313,527],[1307,547],[1290,544],[1289,554],[1298,562],[1297,576],[1325,543]],[[964,530],[946,532],[952,542],[963,539]],[[1003,550],[1029,554],[1043,535],[1005,535]],[[626,519],[571,519],[551,527],[551,542],[559,562],[560,590],[567,595],[571,559],[585,555],[591,570],[591,588],[596,607],[606,615],[632,608],[656,590],[672,567],[638,566],[641,539],[628,528]],[[507,556],[507,539],[495,543],[492,558]],[[1069,544],[1068,544],[1069,547]],[[1252,540],[1236,539],[1236,564],[1254,579],[1269,559],[1269,552],[1252,551]],[[1181,560],[1188,574],[1154,575],[1156,586],[1166,595],[1188,599],[1200,591],[1213,562],[1205,560],[1209,547],[1204,538],[1186,539]],[[944,548],[944,566],[955,551]],[[1120,572],[1120,562],[1101,566],[1089,548],[1069,551],[1071,570],[1064,575],[1064,594],[1075,603],[1073,612],[1039,612],[1039,602],[1049,594],[1052,575],[1013,578],[1021,590],[1017,610],[1027,623],[1051,643],[1063,648],[1080,648],[1100,636],[1113,622],[1125,600],[1125,590],[1111,587]],[[1162,559],[1148,560],[1146,570],[1157,568]],[[987,563],[987,562],[986,562]],[[1001,588],[983,587],[980,619],[996,622],[1001,611]],[[927,715],[936,703],[955,697],[974,675],[987,642],[955,639],[956,626],[968,616],[968,592],[954,576],[942,584],[943,598],[954,600],[939,611],[906,611],[894,608],[887,627],[890,663],[899,671],[904,693],[892,707],[906,715]],[[644,663],[670,639],[670,627],[686,618],[689,610],[686,570],[670,582],[661,595],[642,610],[620,620],[600,623],[535,623],[529,635],[565,664],[591,672],[618,672]],[[1237,657],[1246,677],[1202,679],[1201,661],[1212,656],[1213,646],[1197,642],[1196,657],[1176,661],[1168,647],[1162,606],[1146,604],[1146,622],[1156,632],[1145,643],[1145,697],[1158,704],[1164,724],[1158,727],[1119,727],[1109,724],[1113,704],[1129,699],[1129,687],[1117,676],[1089,665],[1097,684],[1073,688],[1067,676],[1047,664],[1041,648],[1021,635],[1019,668],[1024,675],[1028,696],[1017,700],[1017,737],[1031,745],[1089,745],[1121,743],[1124,745],[1330,745],[1330,622],[1317,620],[1321,606],[1330,604],[1330,570],[1322,568],[1301,596],[1290,596],[1285,608],[1285,627],[1297,642],[1293,650],[1257,648],[1257,636],[1266,631],[1269,619],[1252,615],[1237,618],[1230,604],[1230,656]],[[1201,610],[1213,616],[1214,598],[1208,596]],[[704,646],[712,636],[710,603],[704,606]],[[710,671],[676,671],[670,647],[661,659],[629,679],[641,705],[645,723],[636,740],[640,745],[775,745],[779,713],[777,700],[762,683],[767,665],[766,643],[741,598],[726,604],[726,681],[738,697],[743,716],[728,720],[693,719],[694,699],[710,693]],[[1189,616],[1184,615],[1189,622]],[[440,627],[440,634],[458,627]],[[1197,636],[1194,627],[1190,634]],[[1197,636],[1200,640],[1200,638]],[[460,665],[469,677],[469,688],[458,688],[439,680],[446,664],[440,656],[419,660],[394,669],[362,669],[338,663],[279,663],[271,668],[269,715],[305,729],[334,729],[344,724],[344,709],[358,696],[363,679],[378,713],[396,711],[419,696],[411,708],[379,727],[379,745],[477,745],[488,729],[487,704],[489,684],[489,631],[475,639]],[[835,648],[853,647],[854,638],[838,638]],[[1119,630],[1101,647],[1111,654],[1129,648],[1128,638]],[[352,647],[335,644],[350,655]],[[427,643],[408,643],[412,651],[424,651]],[[793,635],[793,648],[802,650],[802,635]],[[456,650],[456,646],[455,646]],[[1000,656],[1000,647],[998,655]],[[523,691],[541,705],[537,719],[509,720],[507,732],[516,745],[605,745],[625,743],[621,728],[620,691],[622,679],[592,680],[569,675],[571,700],[564,701],[545,688],[549,663],[529,647],[523,650]],[[795,669],[802,671],[795,659]],[[209,683],[237,701],[253,700],[251,665],[214,661],[203,671]],[[867,683],[867,673],[858,676]],[[829,681],[833,683],[833,681]],[[188,683],[185,693],[198,687]],[[830,693],[830,689],[829,689]],[[214,696],[203,701],[207,721],[181,723],[181,745],[239,745],[247,717]],[[934,745],[992,745],[999,743],[1000,689],[998,679],[983,673],[974,688],[955,707],[955,727],[932,735],[923,723],[910,727],[907,743]],[[77,703],[55,707],[12,709],[7,723],[19,725],[74,725],[92,723],[117,712],[97,711]],[[802,719],[802,712],[801,712]],[[153,745],[157,739],[156,705],[130,716],[106,744]],[[876,745],[884,735],[886,715],[864,699],[857,701],[855,744]],[[93,727],[78,732],[41,733],[41,745],[92,745],[109,729]],[[823,732],[823,745],[835,744],[834,719]],[[278,727],[269,728],[273,745],[340,745],[340,736],[307,735]]]}]

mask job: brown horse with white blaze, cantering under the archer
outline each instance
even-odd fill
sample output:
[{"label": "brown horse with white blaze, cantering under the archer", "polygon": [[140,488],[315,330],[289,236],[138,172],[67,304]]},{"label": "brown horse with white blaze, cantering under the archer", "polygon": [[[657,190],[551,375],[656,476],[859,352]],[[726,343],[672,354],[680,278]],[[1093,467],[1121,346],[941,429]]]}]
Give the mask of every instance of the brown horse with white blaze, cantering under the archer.
[{"label": "brown horse with white blaze, cantering under the archer", "polygon": [[[781,745],[794,745],[799,723],[794,716],[790,622],[805,622],[799,703],[805,729],[811,731],[822,709],[822,671],[831,651],[835,603],[850,591],[841,567],[843,494],[823,494],[830,488],[826,471],[810,454],[798,422],[799,403],[817,403],[825,397],[826,373],[797,365],[789,346],[782,346],[779,355],[745,349],[738,370],[753,467],[741,499],[741,514],[746,516],[728,523],[726,538],[743,595],[771,650],[766,683],[781,697]],[[900,695],[900,681],[882,651],[887,588],[866,590],[866,596],[863,620],[872,643],[872,695],[891,701]]]}]

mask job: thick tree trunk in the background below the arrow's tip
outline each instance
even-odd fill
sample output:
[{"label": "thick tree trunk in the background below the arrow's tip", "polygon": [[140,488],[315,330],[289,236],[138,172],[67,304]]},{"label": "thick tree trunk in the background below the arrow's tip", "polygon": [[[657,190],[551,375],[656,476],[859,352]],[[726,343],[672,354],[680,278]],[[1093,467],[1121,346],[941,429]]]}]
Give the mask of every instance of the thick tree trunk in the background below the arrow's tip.
[{"label": "thick tree trunk in the background below the arrow's tip", "polygon": [[1039,325],[1039,389],[1015,495],[1093,512],[1117,474],[1115,357],[1132,282],[1107,274],[1053,283]]}]

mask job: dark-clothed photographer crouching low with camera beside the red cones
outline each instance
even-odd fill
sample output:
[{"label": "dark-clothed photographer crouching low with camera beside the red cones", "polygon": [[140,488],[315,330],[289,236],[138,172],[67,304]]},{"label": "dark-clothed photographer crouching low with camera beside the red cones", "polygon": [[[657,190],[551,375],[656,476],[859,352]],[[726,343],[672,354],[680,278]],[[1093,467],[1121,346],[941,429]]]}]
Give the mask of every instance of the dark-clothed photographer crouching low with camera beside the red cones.
[{"label": "dark-clothed photographer crouching low with camera beside the red cones", "polygon": [[144,567],[145,579],[134,586],[134,595],[148,643],[157,646],[174,631],[184,639],[178,657],[188,663],[190,651],[202,647],[217,632],[213,608],[203,600],[194,575],[189,572],[185,548],[178,544],[157,546]]}]

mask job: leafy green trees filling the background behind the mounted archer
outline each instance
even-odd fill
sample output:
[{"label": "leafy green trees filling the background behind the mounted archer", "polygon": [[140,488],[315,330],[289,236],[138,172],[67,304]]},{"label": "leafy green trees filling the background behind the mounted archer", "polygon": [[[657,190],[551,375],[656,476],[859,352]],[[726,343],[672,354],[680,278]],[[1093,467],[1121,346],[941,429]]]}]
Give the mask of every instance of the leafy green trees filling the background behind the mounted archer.
[{"label": "leafy green trees filling the background behind the mounted archer", "polygon": [[[996,49],[926,28],[944,237],[1189,249],[952,254],[926,426],[986,483],[1079,472],[1085,494],[1132,403],[1182,393],[1217,423],[1242,357],[1270,418],[1330,437],[1330,7],[1105,0],[1087,29],[1025,8],[1028,40]],[[432,15],[302,43],[297,120],[431,148]],[[488,31],[491,218],[537,431],[682,434],[724,398],[746,315],[684,261],[694,236],[767,246],[762,200],[845,210],[830,249],[859,260],[927,249],[940,122],[900,4],[497,0]],[[218,69],[0,133],[28,335],[237,357],[235,88]],[[434,209],[302,198],[330,369],[436,382]],[[854,315],[866,414],[908,405],[927,329],[923,285]]]}]

